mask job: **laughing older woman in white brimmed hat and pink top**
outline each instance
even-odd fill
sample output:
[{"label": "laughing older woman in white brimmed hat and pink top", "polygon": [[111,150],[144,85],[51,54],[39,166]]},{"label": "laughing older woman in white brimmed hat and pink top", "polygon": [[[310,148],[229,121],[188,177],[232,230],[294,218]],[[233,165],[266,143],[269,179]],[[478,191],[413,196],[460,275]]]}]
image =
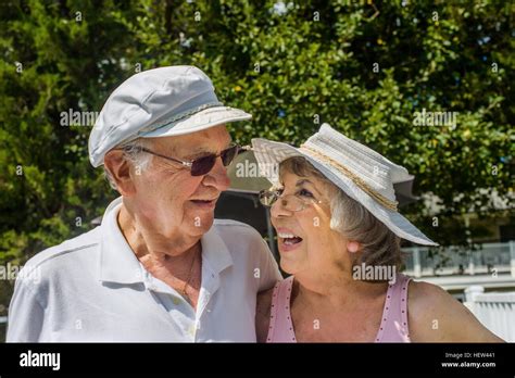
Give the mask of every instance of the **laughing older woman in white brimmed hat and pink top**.
[{"label": "laughing older woman in white brimmed hat and pink top", "polygon": [[405,168],[328,125],[298,149],[253,148],[260,166],[280,164],[262,198],[291,275],[259,295],[259,341],[502,341],[442,289],[398,273],[401,238],[435,244],[397,211]]}]

